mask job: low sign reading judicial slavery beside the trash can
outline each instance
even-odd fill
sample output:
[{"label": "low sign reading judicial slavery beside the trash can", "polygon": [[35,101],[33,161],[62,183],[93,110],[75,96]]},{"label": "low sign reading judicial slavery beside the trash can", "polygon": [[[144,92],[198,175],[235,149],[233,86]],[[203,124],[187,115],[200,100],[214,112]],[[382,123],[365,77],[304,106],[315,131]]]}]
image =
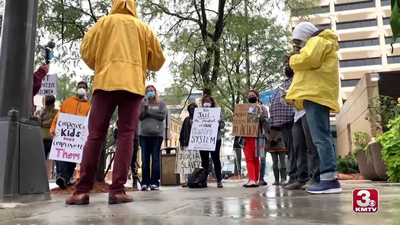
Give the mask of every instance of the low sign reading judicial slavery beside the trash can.
[{"label": "low sign reading judicial slavery beside the trash can", "polygon": [[188,147],[179,148],[176,153],[175,173],[190,174],[194,169],[201,167],[201,158],[198,150],[188,150]]}]

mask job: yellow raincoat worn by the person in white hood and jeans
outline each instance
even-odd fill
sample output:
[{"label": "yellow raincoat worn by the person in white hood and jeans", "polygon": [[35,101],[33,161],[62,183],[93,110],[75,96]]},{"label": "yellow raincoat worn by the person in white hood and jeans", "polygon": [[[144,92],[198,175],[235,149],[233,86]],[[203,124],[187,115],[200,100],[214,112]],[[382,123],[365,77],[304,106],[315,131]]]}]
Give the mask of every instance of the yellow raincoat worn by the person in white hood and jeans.
[{"label": "yellow raincoat worn by the person in white hood and jeans", "polygon": [[328,106],[339,113],[338,36],[332,30],[319,30],[300,50],[290,57],[294,71],[286,101],[304,109],[303,100]]}]

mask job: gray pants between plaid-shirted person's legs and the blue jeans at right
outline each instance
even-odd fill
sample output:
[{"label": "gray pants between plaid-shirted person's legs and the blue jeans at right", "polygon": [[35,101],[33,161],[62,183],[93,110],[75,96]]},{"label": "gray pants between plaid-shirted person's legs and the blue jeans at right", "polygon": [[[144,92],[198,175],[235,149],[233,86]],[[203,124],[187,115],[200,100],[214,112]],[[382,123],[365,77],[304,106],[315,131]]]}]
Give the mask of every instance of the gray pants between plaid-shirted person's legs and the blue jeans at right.
[{"label": "gray pants between plaid-shirted person's legs and the blue jeans at right", "polygon": [[319,156],[312,141],[306,115],[293,126],[293,145],[296,152],[297,180],[304,183],[314,178],[319,182]]}]

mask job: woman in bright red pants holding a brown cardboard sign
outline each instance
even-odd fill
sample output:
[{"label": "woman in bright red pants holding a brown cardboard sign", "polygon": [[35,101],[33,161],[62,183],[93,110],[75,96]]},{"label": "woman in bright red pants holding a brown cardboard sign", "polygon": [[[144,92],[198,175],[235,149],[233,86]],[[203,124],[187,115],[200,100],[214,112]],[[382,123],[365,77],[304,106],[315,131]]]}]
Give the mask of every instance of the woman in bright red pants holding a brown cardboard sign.
[{"label": "woman in bright red pants holding a brown cardboard sign", "polygon": [[258,137],[239,137],[239,145],[242,147],[244,157],[246,158],[248,183],[243,187],[258,187],[260,178],[260,157],[265,157],[265,130],[268,122],[268,111],[260,101],[260,94],[256,90],[250,90],[247,93],[249,103],[258,103],[258,113],[260,113],[260,126],[258,126]]}]

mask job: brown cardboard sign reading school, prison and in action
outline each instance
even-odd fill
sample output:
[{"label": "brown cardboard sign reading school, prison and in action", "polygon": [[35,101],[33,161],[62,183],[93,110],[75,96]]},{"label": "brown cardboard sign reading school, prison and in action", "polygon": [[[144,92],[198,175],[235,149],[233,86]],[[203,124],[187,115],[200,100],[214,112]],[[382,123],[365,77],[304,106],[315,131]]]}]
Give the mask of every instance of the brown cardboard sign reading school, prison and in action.
[{"label": "brown cardboard sign reading school, prison and in action", "polygon": [[258,137],[260,115],[257,104],[236,104],[233,114],[232,135],[236,137]]}]

